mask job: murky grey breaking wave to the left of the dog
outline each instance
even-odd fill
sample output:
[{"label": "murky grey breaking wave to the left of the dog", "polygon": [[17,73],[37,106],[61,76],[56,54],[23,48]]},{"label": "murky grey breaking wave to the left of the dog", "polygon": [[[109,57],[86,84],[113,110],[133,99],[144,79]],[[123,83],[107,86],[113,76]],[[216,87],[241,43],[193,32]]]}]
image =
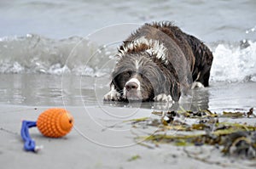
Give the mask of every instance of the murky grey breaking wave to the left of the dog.
[{"label": "murky grey breaking wave to the left of the dog", "polygon": [[65,72],[102,76],[104,70],[99,70],[99,64],[108,61],[109,52],[99,48],[82,37],[62,40],[32,34],[3,37],[0,38],[0,73],[61,75]]}]

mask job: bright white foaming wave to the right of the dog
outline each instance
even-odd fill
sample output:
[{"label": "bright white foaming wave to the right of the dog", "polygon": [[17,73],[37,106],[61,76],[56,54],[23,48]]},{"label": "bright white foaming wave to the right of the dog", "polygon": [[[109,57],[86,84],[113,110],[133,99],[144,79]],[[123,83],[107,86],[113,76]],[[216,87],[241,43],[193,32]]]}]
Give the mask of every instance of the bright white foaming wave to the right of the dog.
[{"label": "bright white foaming wave to the right of the dog", "polygon": [[256,42],[219,43],[213,51],[213,82],[256,82]]}]

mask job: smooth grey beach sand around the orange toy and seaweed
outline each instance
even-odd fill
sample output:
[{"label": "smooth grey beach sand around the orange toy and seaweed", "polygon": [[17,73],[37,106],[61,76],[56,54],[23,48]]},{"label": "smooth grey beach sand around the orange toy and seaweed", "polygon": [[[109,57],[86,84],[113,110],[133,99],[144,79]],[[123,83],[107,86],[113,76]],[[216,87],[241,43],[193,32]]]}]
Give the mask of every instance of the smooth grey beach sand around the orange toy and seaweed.
[{"label": "smooth grey beach sand around the orange toy and seaweed", "polygon": [[[20,138],[21,120],[35,121],[48,108],[1,106],[1,168],[254,168],[256,165],[255,161],[224,156],[214,146],[137,144],[134,139],[137,135],[148,135],[157,128],[134,128],[122,121],[149,117],[151,110],[96,106],[66,107],[74,116],[75,126],[64,138],[45,138],[37,128],[31,128],[32,138],[44,149],[38,153],[26,152]],[[105,111],[126,117],[120,120]],[[254,118],[235,121],[255,125]]]}]

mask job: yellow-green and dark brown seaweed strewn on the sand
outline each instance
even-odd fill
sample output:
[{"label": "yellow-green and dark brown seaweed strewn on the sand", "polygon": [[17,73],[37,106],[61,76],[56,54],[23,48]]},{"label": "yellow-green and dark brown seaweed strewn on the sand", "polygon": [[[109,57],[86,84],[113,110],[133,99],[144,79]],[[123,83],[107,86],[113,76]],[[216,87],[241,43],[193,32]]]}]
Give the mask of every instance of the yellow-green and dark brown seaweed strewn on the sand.
[{"label": "yellow-green and dark brown seaweed strewn on the sand", "polygon": [[[212,113],[210,110],[196,112],[181,111],[154,111],[159,119],[134,119],[132,121],[146,122],[148,126],[158,127],[159,130],[146,136],[137,136],[137,140],[152,142],[154,144],[174,144],[177,146],[201,146],[204,144],[222,146],[224,155],[239,156],[246,159],[256,159],[256,126],[246,123],[219,122],[219,118],[251,118],[253,108],[247,113],[224,111],[222,115]],[[194,120],[193,123],[183,119]],[[154,122],[153,122],[154,121]],[[161,129],[161,130],[160,130]],[[166,131],[166,133],[163,133]],[[167,134],[175,131],[175,134]],[[181,132],[181,133],[179,133]],[[140,142],[141,143],[141,142]]]}]

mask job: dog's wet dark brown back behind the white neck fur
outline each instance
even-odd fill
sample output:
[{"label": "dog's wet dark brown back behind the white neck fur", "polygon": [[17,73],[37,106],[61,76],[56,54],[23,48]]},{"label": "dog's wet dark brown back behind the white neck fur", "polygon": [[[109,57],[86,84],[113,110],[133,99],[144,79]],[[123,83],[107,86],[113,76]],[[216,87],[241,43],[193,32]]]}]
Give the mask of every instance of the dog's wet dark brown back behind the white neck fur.
[{"label": "dog's wet dark brown back behind the white neck fur", "polygon": [[[172,25],[172,22],[154,22],[153,24],[143,25],[134,34],[131,34],[124,42],[124,45],[139,37],[148,37],[148,39],[163,42],[166,48],[168,48],[168,56],[173,64],[176,64],[176,62],[172,61],[172,58],[184,55],[186,59],[185,62],[190,66],[193,82],[201,82],[204,87],[209,86],[213,55],[210,49],[199,39],[184,33],[177,26]],[[170,41],[175,42],[178,47],[176,47],[175,44],[173,45]],[[171,43],[171,45],[169,43]],[[183,54],[179,54],[180,51],[178,51],[178,48],[182,50]],[[177,71],[178,70],[177,68]]]}]

